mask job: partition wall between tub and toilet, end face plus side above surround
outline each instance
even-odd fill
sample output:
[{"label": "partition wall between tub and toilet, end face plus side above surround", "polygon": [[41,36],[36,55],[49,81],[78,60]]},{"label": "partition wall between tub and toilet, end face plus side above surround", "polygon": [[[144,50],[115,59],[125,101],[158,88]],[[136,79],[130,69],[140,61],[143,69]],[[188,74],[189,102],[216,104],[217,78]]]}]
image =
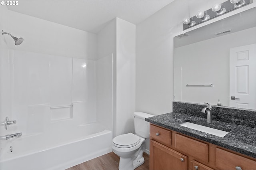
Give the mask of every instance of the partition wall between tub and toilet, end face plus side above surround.
[{"label": "partition wall between tub and toilet, end face plus side above surround", "polygon": [[115,18],[98,33],[98,58],[113,53],[113,135],[134,132],[135,25]]}]

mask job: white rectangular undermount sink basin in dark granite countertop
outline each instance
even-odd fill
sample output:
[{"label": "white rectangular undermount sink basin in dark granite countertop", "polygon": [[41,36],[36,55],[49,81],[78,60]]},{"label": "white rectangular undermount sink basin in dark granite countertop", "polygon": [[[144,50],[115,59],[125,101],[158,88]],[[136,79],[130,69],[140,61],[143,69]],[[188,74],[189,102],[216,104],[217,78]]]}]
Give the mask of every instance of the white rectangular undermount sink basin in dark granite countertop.
[{"label": "white rectangular undermount sink basin in dark granite countertop", "polygon": [[226,134],[228,134],[228,132],[223,131],[223,130],[218,130],[218,129],[215,129],[215,128],[205,127],[205,126],[197,125],[197,124],[190,123],[190,122],[182,123],[182,124],[180,124],[180,126],[192,128],[194,130],[198,130],[198,131],[201,131],[201,132],[213,134],[215,136],[220,136],[220,137],[224,137]]}]

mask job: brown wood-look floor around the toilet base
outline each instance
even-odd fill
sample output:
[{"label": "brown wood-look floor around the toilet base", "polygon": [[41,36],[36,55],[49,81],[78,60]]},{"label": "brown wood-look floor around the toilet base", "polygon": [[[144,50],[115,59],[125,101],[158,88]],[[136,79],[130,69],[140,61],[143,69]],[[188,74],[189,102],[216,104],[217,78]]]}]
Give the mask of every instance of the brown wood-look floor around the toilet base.
[{"label": "brown wood-look floor around the toilet base", "polygon": [[[135,170],[149,170],[149,155],[144,152],[143,157],[145,159],[144,164]],[[118,170],[118,165],[119,156],[114,154],[114,152],[110,152],[98,158],[68,168],[67,170]]]}]

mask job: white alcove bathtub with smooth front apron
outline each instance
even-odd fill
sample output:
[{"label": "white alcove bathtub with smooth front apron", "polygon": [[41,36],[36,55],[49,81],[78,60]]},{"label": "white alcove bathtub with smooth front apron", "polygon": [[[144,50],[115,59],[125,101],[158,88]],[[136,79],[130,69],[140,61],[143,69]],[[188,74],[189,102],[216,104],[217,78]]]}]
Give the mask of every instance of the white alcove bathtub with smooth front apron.
[{"label": "white alcove bathtub with smooth front apron", "polygon": [[96,123],[72,128],[1,140],[0,169],[64,170],[112,151],[110,130]]}]

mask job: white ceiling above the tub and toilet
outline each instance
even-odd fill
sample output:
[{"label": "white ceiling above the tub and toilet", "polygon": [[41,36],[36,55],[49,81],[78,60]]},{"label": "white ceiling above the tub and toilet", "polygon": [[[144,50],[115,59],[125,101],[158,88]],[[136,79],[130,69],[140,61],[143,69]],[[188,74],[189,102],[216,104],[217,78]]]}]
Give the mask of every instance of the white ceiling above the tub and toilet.
[{"label": "white ceiling above the tub and toilet", "polygon": [[139,24],[174,0],[19,0],[9,10],[98,33],[118,17]]}]

